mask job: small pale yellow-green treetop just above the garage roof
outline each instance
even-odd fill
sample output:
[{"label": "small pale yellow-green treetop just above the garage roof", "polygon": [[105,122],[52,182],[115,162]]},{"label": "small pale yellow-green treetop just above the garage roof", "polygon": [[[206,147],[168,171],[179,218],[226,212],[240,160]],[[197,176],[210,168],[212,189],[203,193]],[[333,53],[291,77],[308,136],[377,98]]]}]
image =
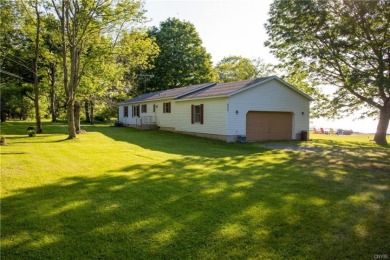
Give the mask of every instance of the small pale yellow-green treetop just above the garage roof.
[{"label": "small pale yellow-green treetop just above the garage roof", "polygon": [[250,60],[241,56],[223,58],[217,63],[214,70],[220,74],[222,82],[266,77],[271,76],[274,72],[272,65],[264,63],[260,58]]}]

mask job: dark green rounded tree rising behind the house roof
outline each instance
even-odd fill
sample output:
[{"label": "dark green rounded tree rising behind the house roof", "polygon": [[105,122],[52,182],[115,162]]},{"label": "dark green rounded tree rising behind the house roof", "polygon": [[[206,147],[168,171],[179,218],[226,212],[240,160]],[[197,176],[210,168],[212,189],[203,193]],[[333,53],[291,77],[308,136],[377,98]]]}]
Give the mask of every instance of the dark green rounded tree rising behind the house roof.
[{"label": "dark green rounded tree rising behind the house roof", "polygon": [[149,35],[156,39],[160,53],[154,68],[143,74],[153,77],[145,82],[143,92],[212,81],[211,56],[202,46],[195,26],[177,18],[169,18],[152,27]]}]

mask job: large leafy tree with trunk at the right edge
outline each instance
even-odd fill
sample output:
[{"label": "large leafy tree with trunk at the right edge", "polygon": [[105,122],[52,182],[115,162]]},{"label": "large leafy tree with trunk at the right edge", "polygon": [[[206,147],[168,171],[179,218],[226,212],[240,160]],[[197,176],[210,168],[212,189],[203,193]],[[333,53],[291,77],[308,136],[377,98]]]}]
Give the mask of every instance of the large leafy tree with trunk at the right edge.
[{"label": "large leafy tree with trunk at the right edge", "polygon": [[337,87],[333,114],[366,108],[374,137],[387,144],[390,119],[390,2],[275,0],[266,46],[286,67],[300,62],[318,82]]}]

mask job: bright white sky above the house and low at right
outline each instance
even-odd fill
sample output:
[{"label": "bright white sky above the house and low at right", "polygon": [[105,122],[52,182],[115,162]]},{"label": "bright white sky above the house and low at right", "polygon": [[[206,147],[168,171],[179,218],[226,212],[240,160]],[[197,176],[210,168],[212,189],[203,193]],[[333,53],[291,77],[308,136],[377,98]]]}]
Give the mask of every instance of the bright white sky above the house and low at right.
[{"label": "bright white sky above the house and low at right", "polygon": [[[264,47],[267,40],[264,24],[271,3],[272,0],[146,0],[145,9],[151,19],[147,26],[158,26],[169,17],[194,24],[214,65],[230,55],[260,57],[275,64],[277,59]],[[377,120],[354,120],[354,115],[342,120],[313,119],[310,122],[310,127],[364,133],[374,133],[376,126]]]}]

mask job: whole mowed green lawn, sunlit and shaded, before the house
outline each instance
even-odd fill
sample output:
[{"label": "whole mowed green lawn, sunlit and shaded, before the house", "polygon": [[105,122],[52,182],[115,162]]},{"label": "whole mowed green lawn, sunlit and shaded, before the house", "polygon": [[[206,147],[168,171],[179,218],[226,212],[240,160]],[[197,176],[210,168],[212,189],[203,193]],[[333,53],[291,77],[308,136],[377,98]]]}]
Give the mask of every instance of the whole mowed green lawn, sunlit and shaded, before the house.
[{"label": "whole mowed green lawn, sunlit and shaded, before the house", "polygon": [[[2,259],[372,259],[390,254],[390,149],[350,137],[227,144],[2,123]],[[335,138],[335,137],[328,137]],[[368,138],[367,138],[368,139]]]}]

